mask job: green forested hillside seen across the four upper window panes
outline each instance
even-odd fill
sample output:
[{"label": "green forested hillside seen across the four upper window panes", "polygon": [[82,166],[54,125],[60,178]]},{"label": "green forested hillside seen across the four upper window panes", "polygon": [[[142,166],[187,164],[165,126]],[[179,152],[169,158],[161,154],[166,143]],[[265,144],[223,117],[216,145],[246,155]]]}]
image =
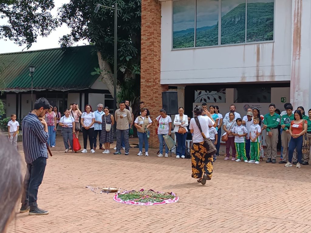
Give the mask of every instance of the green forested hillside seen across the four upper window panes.
[{"label": "green forested hillside seen across the four upper window panes", "polygon": [[[221,44],[245,42],[245,6],[240,4],[221,17]],[[247,42],[273,40],[274,2],[247,4]],[[218,45],[218,23],[197,28],[196,46]],[[194,46],[194,29],[175,31],[173,48]]]}]

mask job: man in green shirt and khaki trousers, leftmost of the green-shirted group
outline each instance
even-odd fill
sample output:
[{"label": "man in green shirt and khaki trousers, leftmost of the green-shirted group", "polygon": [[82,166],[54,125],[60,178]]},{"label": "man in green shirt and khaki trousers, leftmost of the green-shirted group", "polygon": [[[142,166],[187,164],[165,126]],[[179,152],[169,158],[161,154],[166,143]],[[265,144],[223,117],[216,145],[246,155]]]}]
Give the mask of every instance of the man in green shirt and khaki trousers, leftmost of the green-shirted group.
[{"label": "man in green shirt and khaki trousers, leftmost of the green-shirted group", "polygon": [[275,113],[275,105],[272,103],[269,105],[269,112],[265,115],[262,128],[267,131],[266,144],[267,144],[267,163],[276,163],[276,145],[278,142],[279,131],[277,126],[281,122],[281,116]]}]

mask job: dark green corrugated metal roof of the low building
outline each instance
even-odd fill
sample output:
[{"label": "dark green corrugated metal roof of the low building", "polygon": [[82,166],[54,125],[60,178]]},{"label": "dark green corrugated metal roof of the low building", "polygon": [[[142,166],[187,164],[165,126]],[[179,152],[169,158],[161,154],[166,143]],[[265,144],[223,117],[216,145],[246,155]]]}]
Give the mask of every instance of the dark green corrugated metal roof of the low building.
[{"label": "dark green corrugated metal roof of the low building", "polygon": [[81,90],[90,88],[99,75],[91,75],[98,67],[94,46],[62,48],[0,54],[4,66],[2,78],[6,91],[31,89],[29,66],[36,66],[33,73],[34,90]]}]

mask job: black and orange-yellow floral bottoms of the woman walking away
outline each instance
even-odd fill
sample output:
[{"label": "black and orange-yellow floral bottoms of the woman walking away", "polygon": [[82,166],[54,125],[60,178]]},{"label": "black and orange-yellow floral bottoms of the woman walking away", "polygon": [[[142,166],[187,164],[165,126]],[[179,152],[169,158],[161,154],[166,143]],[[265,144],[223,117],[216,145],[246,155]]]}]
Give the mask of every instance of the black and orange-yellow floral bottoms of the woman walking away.
[{"label": "black and orange-yellow floral bottoms of the woman walking away", "polygon": [[[209,140],[211,142],[211,140]],[[213,154],[215,146],[212,143],[197,142],[192,144],[191,163],[192,177],[202,178],[204,173],[211,179],[213,173]]]}]

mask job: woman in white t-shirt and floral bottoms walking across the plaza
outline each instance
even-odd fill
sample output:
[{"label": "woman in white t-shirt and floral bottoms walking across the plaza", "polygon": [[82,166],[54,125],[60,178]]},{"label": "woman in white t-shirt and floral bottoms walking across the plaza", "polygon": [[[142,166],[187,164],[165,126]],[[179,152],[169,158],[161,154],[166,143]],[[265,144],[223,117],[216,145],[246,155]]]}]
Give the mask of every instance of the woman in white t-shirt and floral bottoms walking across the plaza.
[{"label": "woman in white t-shirt and floral bottoms walking across the plaza", "polygon": [[209,126],[216,127],[216,123],[209,111],[196,106],[193,110],[196,117],[190,120],[190,132],[193,133],[193,144],[191,148],[192,177],[198,179],[202,185],[206,180],[211,180],[213,174],[213,154],[216,148],[211,142]]}]

